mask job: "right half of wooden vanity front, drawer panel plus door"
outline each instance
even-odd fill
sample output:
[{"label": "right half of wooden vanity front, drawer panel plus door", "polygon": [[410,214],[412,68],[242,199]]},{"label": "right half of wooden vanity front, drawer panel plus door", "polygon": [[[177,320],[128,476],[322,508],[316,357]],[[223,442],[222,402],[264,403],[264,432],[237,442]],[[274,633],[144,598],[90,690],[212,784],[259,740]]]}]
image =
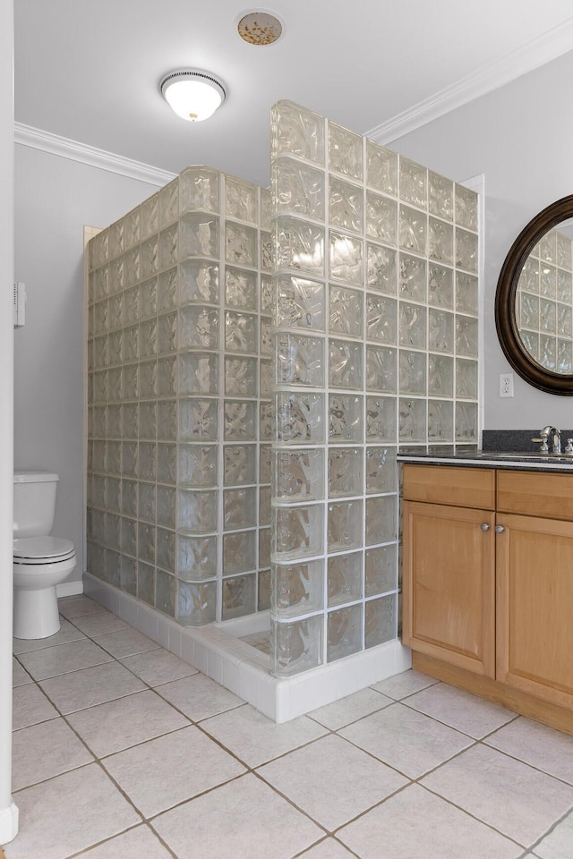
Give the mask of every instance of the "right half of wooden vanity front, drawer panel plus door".
[{"label": "right half of wooden vanity front, drawer panel plus door", "polygon": [[573,710],[573,474],[498,472],[497,668]]}]

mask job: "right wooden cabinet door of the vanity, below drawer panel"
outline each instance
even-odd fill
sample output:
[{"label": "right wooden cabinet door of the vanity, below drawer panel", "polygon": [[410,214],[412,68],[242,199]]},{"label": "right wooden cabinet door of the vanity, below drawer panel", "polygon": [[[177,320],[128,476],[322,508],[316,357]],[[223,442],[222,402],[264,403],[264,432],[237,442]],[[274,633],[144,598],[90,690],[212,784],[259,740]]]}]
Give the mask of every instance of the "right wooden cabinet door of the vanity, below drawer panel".
[{"label": "right wooden cabinet door of the vanity, below drawer panel", "polygon": [[498,514],[497,679],[573,707],[573,523]]}]

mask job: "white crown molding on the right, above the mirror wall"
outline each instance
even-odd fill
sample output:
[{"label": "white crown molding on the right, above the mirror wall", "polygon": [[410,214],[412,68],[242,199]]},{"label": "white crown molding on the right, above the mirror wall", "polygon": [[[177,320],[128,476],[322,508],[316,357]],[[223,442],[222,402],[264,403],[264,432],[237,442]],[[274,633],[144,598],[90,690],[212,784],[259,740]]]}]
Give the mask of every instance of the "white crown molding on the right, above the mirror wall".
[{"label": "white crown molding on the right, above the mirror wall", "polygon": [[430,98],[425,98],[403,113],[391,117],[385,123],[365,132],[365,136],[382,145],[390,143],[475,98],[500,89],[527,72],[533,72],[570,50],[573,50],[573,18],[548,30],[543,36],[517,48],[497,62],[466,75],[453,86],[441,89]]}]

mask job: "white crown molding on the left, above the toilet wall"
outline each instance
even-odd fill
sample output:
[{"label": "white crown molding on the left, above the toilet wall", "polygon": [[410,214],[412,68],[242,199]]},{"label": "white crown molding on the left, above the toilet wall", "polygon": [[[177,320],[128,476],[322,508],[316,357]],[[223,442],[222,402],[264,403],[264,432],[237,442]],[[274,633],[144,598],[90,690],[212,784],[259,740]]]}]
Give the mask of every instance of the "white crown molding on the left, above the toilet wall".
[{"label": "white crown molding on the left, above the toilet wall", "polygon": [[68,138],[60,137],[58,134],[43,132],[31,125],[14,123],[14,142],[31,149],[40,149],[50,155],[79,161],[90,167],[98,167],[99,170],[107,170],[108,173],[126,176],[128,179],[137,179],[140,182],[147,182],[159,187],[163,187],[175,179],[175,173],[168,173],[167,170],[160,170],[149,164],[141,164],[140,161],[124,158],[113,152],[107,152],[105,149],[97,149],[95,146],[79,143],[77,140],[68,140]]}]

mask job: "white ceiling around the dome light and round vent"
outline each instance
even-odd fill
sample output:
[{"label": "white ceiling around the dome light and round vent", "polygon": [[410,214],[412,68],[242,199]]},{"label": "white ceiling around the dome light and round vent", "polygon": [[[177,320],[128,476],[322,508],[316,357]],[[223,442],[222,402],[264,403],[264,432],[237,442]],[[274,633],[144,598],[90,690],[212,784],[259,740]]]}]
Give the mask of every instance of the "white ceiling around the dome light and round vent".
[{"label": "white ceiling around the dome light and round vent", "polygon": [[[179,173],[207,164],[269,183],[269,108],[287,98],[381,141],[573,49],[570,0],[16,0],[15,119]],[[269,47],[236,23],[285,21]],[[227,84],[204,123],[158,83],[201,68]]]}]

